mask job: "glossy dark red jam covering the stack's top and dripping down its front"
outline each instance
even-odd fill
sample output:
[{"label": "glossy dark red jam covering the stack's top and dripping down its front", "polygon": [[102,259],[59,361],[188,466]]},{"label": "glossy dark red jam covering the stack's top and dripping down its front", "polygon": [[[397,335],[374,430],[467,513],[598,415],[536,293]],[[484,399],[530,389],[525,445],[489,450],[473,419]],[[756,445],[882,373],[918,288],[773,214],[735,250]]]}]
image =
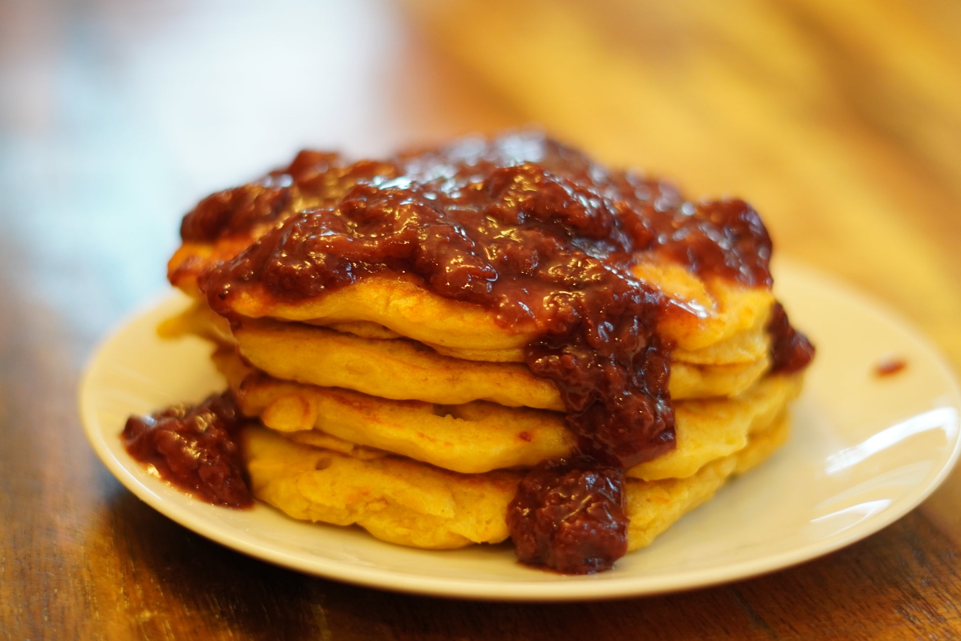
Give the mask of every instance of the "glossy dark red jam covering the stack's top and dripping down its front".
[{"label": "glossy dark red jam covering the stack's top and dripping down its front", "polygon": [[199,280],[228,318],[235,295],[300,300],[382,273],[534,328],[527,363],[556,384],[580,451],[531,471],[508,522],[523,560],[562,572],[626,551],[623,470],[675,447],[672,346],[655,332],[667,301],[632,266],[664,258],[771,284],[771,241],[743,201],[684,201],[530,132],[382,163],[302,152],[202,202],[183,232],[259,238]]}]

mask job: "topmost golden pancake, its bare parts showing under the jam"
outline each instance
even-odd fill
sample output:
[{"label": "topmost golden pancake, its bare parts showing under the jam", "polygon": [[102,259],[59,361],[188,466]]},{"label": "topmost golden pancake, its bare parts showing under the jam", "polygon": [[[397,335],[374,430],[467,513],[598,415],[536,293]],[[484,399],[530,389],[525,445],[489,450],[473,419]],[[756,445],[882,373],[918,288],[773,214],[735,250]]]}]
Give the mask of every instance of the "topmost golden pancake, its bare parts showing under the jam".
[{"label": "topmost golden pancake, its bare parts showing under the jam", "polygon": [[[208,260],[202,259],[205,256]],[[220,256],[221,252],[212,246],[181,247],[168,267],[171,282],[187,294],[200,297],[197,273],[216,265],[212,257]],[[678,296],[672,298],[678,311],[665,315],[657,330],[675,342],[680,353],[725,342],[745,330],[755,330],[753,334],[760,340],[741,344],[734,354],[747,350],[740,358],[753,360],[766,350],[766,344],[758,347],[765,337],[763,331],[758,333],[756,328],[763,330],[764,320],[774,303],[770,290],[739,286],[721,278],[702,280],[681,269],[648,266],[646,275],[649,280],[645,282],[655,289]],[[656,276],[660,279],[655,279]],[[677,294],[692,290],[697,295]],[[494,360],[483,357],[485,351],[517,353],[516,350],[541,333],[530,322],[505,325],[498,321],[496,314],[480,305],[433,294],[406,277],[370,276],[333,292],[296,301],[280,299],[254,283],[230,297],[229,304],[229,312],[243,318],[320,325],[357,321],[378,324],[421,343],[462,350],[461,356],[474,352],[478,360]]]}]

